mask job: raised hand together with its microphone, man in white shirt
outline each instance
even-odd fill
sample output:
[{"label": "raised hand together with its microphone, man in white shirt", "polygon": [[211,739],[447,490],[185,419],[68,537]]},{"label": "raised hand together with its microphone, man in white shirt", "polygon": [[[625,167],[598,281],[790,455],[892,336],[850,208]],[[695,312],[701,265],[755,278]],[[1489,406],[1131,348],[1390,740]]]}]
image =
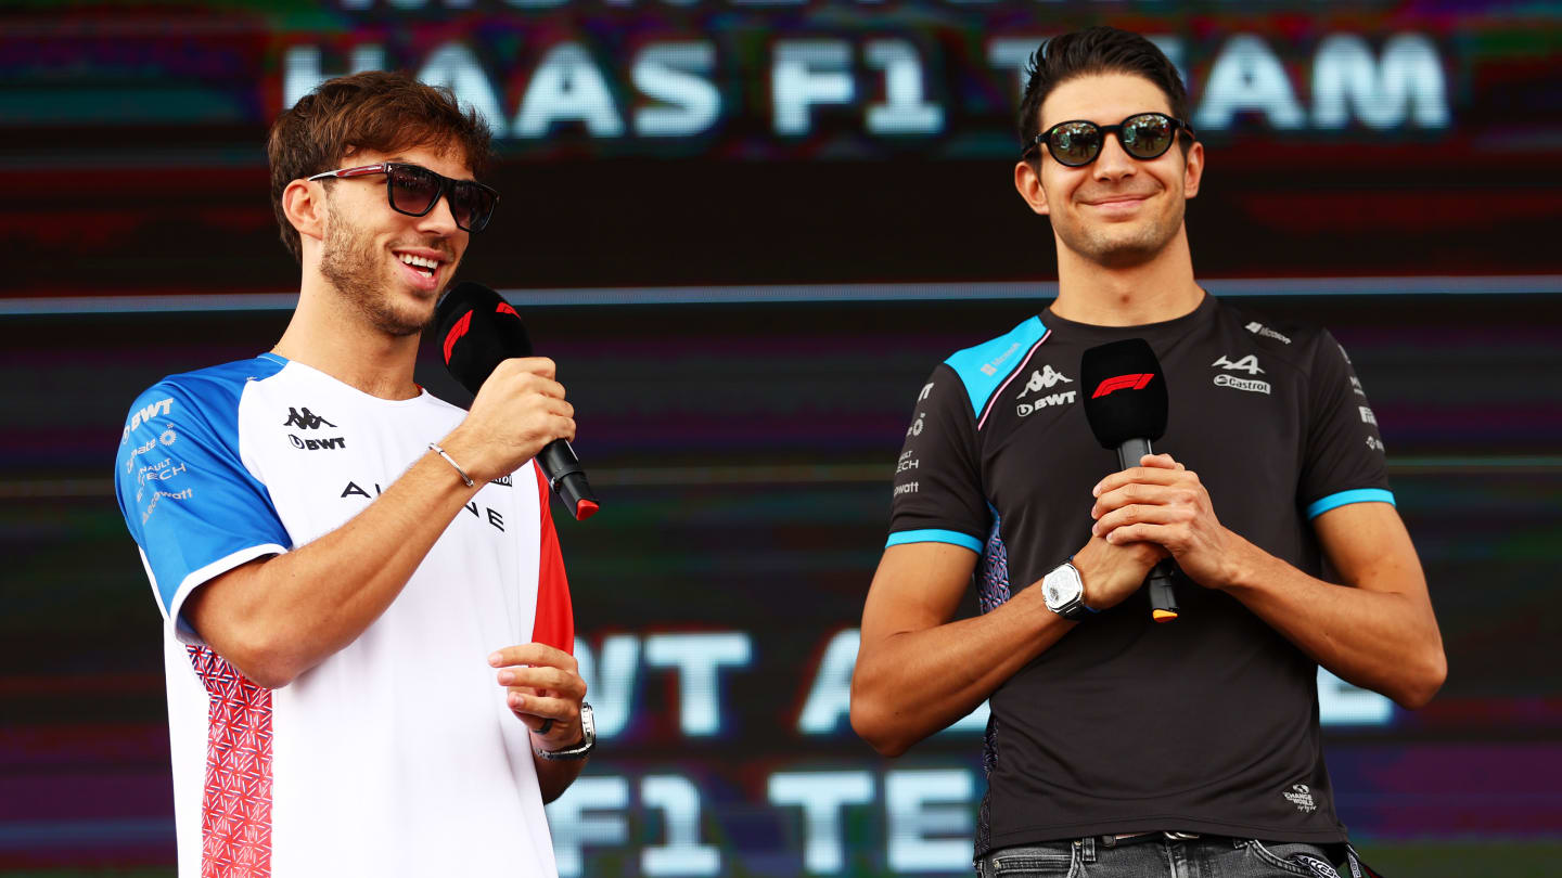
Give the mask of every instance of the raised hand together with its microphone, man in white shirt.
[{"label": "raised hand together with its microphone, man in white shirt", "polygon": [[489,481],[531,458],[576,520],[600,505],[570,439],[575,406],[564,400],[551,359],[531,356],[520,314],[492,289],[462,283],[434,312],[445,366],[472,391],[472,409],[447,439],[469,456],[472,476]]}]

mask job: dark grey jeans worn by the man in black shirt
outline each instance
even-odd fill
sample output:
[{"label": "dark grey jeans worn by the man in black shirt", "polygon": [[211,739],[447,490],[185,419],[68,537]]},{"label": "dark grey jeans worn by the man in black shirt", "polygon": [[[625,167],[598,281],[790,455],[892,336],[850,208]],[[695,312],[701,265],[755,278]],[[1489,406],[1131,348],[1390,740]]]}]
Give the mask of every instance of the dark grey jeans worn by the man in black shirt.
[{"label": "dark grey jeans worn by the man in black shirt", "polygon": [[1318,845],[1256,839],[1156,839],[1104,847],[1100,839],[1006,847],[976,861],[978,878],[1317,878],[1292,855],[1332,862]]}]

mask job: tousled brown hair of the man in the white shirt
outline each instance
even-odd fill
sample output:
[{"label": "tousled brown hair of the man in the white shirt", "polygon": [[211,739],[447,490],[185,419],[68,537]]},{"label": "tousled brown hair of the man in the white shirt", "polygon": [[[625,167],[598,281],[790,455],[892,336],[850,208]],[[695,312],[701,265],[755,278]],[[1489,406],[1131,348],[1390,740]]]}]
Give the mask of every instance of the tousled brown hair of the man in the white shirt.
[{"label": "tousled brown hair of the man in the white shirt", "polygon": [[303,261],[298,230],[283,212],[283,191],[294,180],[334,170],[350,153],[417,145],[456,150],[472,173],[481,175],[492,158],[492,137],[476,111],[461,109],[455,92],[406,73],[370,70],[326,80],[283,111],[266,141],[283,245]]}]

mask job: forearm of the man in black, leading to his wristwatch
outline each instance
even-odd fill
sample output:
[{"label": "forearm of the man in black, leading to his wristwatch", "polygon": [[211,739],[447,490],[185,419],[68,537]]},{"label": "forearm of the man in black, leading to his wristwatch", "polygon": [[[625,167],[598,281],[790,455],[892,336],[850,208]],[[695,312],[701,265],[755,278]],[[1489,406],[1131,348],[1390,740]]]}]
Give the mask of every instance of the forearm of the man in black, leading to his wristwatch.
[{"label": "forearm of the man in black, leading to his wristwatch", "polygon": [[984,616],[892,634],[858,658],[851,728],[898,756],[976,709],[1073,626],[1040,589],[1025,589]]}]

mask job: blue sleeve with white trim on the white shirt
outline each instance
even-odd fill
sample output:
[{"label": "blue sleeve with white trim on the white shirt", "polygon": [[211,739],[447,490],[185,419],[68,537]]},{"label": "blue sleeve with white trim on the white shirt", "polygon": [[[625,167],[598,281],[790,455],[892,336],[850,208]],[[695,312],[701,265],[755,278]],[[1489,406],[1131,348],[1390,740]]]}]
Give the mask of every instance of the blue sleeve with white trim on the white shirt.
[{"label": "blue sleeve with white trim on the white shirt", "polygon": [[130,409],[114,461],[114,494],[141,547],[152,591],[183,641],[180,617],[201,583],[292,541],[266,486],[239,458],[244,381],[183,375],[144,392]]}]

